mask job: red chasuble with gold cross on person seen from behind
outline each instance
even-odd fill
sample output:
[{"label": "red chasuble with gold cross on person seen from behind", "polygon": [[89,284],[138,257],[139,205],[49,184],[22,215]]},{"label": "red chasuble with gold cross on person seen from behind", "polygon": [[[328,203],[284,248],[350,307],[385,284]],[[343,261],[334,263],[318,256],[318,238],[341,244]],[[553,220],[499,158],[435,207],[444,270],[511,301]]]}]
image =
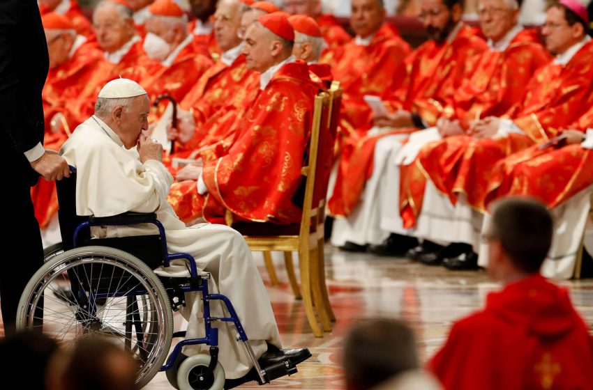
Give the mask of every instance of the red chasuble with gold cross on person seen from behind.
[{"label": "red chasuble with gold cross on person seen from behind", "polygon": [[591,389],[593,343],[569,293],[538,274],[456,322],[428,367],[446,390]]}]

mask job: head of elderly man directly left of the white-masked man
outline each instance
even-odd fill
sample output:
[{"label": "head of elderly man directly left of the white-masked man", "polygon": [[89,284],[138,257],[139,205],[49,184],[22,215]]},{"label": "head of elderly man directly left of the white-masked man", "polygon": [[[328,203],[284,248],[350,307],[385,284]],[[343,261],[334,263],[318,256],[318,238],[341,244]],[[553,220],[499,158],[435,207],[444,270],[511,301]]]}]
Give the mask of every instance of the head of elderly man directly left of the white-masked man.
[{"label": "head of elderly man directly left of the white-masked man", "polygon": [[135,34],[130,8],[111,1],[101,1],[93,13],[93,27],[99,46],[105,52],[114,52]]}]

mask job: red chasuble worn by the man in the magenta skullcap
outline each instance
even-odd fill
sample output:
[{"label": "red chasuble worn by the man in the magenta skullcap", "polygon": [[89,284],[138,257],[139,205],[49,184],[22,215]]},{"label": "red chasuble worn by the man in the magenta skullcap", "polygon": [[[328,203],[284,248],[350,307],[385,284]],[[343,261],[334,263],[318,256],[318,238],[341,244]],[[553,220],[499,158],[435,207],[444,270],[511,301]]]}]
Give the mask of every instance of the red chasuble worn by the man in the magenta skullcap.
[{"label": "red chasuble worn by the man in the magenta skullcap", "polygon": [[566,65],[550,63],[536,72],[523,102],[509,111],[524,134],[484,140],[464,135],[423,148],[418,162],[437,189],[448,194],[453,203],[457,194],[465,193],[470,205],[485,210],[488,185],[500,159],[555,137],[590,107],[592,56],[593,42],[588,42]]}]

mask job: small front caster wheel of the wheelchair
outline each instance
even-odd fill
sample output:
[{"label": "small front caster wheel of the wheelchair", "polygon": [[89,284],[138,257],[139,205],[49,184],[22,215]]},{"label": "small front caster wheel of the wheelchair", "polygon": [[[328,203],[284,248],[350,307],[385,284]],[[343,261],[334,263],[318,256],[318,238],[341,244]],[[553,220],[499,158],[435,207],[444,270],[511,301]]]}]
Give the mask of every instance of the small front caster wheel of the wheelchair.
[{"label": "small front caster wheel of the wheelchair", "polygon": [[207,354],[195,354],[183,360],[177,370],[177,389],[179,390],[223,390],[225,387],[225,369],[216,363],[214,372],[209,377],[202,377],[210,364]]}]

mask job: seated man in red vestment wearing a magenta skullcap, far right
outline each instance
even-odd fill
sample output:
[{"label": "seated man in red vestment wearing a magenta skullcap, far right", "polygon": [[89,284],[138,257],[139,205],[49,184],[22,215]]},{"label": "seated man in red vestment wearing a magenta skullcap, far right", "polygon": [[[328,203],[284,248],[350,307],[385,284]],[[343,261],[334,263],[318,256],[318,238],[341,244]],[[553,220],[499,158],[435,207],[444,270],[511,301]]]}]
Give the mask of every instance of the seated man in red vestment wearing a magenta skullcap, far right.
[{"label": "seated man in red vestment wearing a magenta skullcap, far right", "polygon": [[[562,0],[548,9],[542,33],[546,47],[556,56],[531,79],[522,102],[503,118],[479,120],[468,135],[449,137],[421,149],[417,163],[436,189],[449,197],[457,213],[470,214],[472,208],[484,211],[496,162],[554,137],[589,107],[593,42],[585,33],[588,22],[580,16],[587,17],[586,10],[579,4]],[[479,217],[476,214],[476,219]],[[461,250],[441,256],[445,267],[475,267],[472,247],[478,240],[477,235],[472,235],[450,241],[463,244],[455,245]]]}]

